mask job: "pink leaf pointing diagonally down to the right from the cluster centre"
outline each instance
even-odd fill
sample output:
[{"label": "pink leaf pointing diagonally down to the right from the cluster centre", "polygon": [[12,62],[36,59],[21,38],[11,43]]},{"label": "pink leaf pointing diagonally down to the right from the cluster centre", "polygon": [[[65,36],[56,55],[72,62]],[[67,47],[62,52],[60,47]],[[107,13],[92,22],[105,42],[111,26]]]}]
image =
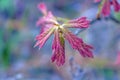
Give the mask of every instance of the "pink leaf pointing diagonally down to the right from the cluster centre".
[{"label": "pink leaf pointing diagonally down to the right from the cluster centre", "polygon": [[93,48],[90,45],[85,44],[82,39],[78,38],[67,30],[64,34],[72,48],[78,50],[83,57],[93,57],[91,51]]}]

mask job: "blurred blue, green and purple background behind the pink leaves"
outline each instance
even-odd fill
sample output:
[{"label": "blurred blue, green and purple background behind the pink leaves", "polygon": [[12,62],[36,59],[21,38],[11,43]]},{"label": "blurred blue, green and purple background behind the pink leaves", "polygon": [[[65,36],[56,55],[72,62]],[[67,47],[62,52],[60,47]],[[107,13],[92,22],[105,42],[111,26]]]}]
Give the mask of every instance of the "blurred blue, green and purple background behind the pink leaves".
[{"label": "blurred blue, green and purple background behind the pink leaves", "polygon": [[[119,22],[103,18],[77,35],[94,47],[94,59],[82,58],[66,41],[66,62],[56,67],[50,60],[52,37],[40,50],[33,47],[40,2],[68,19],[93,20],[98,10],[93,0],[0,0],[0,80],[120,80]],[[120,13],[111,15],[120,21]]]}]

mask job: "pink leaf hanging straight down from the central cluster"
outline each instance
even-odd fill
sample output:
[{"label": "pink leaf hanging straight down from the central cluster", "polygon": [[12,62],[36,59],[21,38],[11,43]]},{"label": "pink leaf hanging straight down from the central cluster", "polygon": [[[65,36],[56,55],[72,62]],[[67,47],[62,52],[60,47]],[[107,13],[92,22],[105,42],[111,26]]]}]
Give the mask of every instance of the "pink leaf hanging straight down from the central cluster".
[{"label": "pink leaf hanging straight down from the central cluster", "polygon": [[64,39],[55,31],[55,37],[52,44],[53,55],[51,57],[52,62],[55,62],[57,66],[61,66],[65,63],[65,50],[64,50]]}]

